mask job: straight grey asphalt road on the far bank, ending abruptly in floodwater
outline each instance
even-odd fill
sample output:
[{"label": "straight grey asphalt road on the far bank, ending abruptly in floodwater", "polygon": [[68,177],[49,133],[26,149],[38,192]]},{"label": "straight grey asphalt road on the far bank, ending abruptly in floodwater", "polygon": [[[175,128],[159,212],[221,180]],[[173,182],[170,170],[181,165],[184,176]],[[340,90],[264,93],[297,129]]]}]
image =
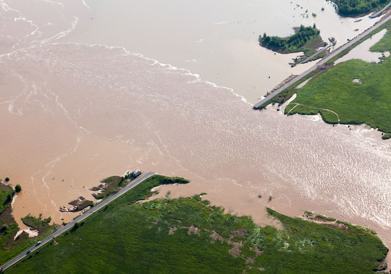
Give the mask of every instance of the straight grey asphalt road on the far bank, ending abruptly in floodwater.
[{"label": "straight grey asphalt road on the far bank, ending abruptly in floodwater", "polygon": [[389,16],[387,16],[387,18],[384,18],[382,21],[380,21],[379,23],[377,23],[376,25],[372,26],[371,28],[369,28],[367,31],[363,32],[362,34],[358,35],[355,39],[352,39],[350,40],[348,43],[344,44],[341,48],[337,49],[336,51],[332,52],[330,55],[328,55],[326,58],[324,58],[323,60],[321,60],[321,62],[313,65],[312,67],[310,67],[309,69],[307,69],[305,72],[301,73],[299,76],[293,78],[289,83],[286,83],[283,87],[279,88],[278,90],[274,91],[273,93],[267,95],[264,99],[262,99],[261,101],[259,101],[258,103],[256,103],[253,108],[259,108],[260,106],[262,106],[262,104],[266,103],[267,101],[269,101],[270,99],[272,99],[273,97],[277,96],[278,94],[280,94],[281,92],[283,92],[285,89],[289,88],[291,85],[293,85],[294,83],[296,83],[297,81],[301,80],[303,77],[305,77],[308,73],[314,71],[317,69],[318,65],[320,64],[323,64],[325,62],[327,62],[328,60],[334,58],[336,55],[338,55],[339,53],[341,53],[342,51],[344,51],[345,49],[347,49],[348,47],[352,46],[353,44],[355,44],[357,41],[360,41],[362,38],[364,38],[366,35],[368,35],[369,33],[373,32],[375,29],[377,29],[378,27],[380,27],[381,25],[383,25],[384,23],[386,23],[389,19],[391,19],[391,14]]}]

